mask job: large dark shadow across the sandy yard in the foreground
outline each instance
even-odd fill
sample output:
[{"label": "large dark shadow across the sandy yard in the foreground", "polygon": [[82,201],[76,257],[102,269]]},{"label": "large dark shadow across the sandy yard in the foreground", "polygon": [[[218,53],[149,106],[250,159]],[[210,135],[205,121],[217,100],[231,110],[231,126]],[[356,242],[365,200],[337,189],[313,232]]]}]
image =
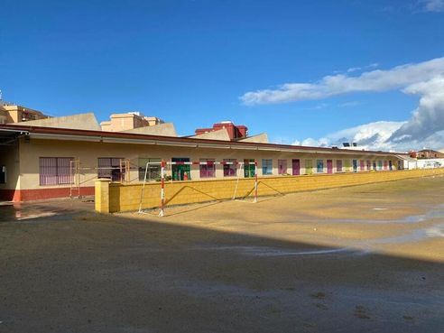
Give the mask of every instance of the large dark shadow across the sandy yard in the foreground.
[{"label": "large dark shadow across the sandy yard in the foreground", "polygon": [[441,332],[444,265],[67,212],[0,224],[0,331]]}]

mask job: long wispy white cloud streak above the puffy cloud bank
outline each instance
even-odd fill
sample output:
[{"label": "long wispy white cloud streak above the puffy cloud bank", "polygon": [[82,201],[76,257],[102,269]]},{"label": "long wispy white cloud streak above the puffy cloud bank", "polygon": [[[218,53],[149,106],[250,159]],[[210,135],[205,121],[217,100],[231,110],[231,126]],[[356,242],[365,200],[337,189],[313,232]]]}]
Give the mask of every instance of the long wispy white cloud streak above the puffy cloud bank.
[{"label": "long wispy white cloud streak above the puffy cloud bank", "polygon": [[315,83],[285,83],[276,89],[245,93],[245,105],[273,104],[307,99],[320,99],[362,91],[387,91],[406,88],[414,83],[444,74],[444,58],[393,69],[375,69],[352,77],[344,74],[328,75]]}]

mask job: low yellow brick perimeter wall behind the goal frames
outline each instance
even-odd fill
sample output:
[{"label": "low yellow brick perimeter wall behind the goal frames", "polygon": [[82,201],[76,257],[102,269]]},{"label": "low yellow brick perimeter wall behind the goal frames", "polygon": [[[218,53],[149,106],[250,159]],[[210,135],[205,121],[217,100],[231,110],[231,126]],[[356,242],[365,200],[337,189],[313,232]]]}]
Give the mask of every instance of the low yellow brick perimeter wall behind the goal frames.
[{"label": "low yellow brick perimeter wall behind the goal frames", "polygon": [[[258,180],[258,196],[331,189],[438,174],[444,174],[444,168],[267,177]],[[237,199],[254,197],[254,179],[165,182],[166,206],[232,199],[236,185]],[[142,190],[143,184],[124,185],[110,183],[109,180],[97,180],[96,210],[101,213],[138,210]],[[160,195],[159,182],[145,184],[142,208],[159,207]]]}]

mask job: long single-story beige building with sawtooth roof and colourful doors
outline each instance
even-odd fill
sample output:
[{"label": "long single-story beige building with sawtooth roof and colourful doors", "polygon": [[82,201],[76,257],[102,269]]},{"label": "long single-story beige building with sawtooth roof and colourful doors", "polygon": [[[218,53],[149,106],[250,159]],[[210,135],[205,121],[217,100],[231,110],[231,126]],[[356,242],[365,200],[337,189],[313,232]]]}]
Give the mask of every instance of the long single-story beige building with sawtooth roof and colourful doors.
[{"label": "long single-story beige building with sawtooth roof and colourful doors", "polygon": [[233,137],[226,125],[235,125],[227,122],[214,133],[199,130],[191,137],[177,136],[171,124],[155,123],[116,132],[86,114],[0,125],[0,199],[93,195],[97,178],[140,182],[147,165],[146,179],[155,181],[161,161],[170,162],[167,175],[175,181],[254,177],[254,163],[259,177],[395,171],[408,158],[406,153],[266,143],[264,134],[247,136],[245,126]]}]

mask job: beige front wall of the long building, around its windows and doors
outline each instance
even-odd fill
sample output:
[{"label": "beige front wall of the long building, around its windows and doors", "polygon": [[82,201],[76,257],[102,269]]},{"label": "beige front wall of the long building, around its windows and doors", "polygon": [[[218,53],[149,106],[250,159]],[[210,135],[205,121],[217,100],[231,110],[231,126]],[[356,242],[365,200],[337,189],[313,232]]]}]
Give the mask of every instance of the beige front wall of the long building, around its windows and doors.
[{"label": "beige front wall of the long building, around its windows and doors", "polygon": [[[80,162],[80,185],[94,186],[94,180],[97,179],[97,158],[112,157],[129,160],[131,163],[131,171],[129,179],[131,182],[139,181],[139,159],[142,158],[156,158],[164,161],[171,161],[171,158],[190,158],[191,162],[199,162],[200,159],[213,159],[217,162],[222,162],[223,159],[236,159],[238,162],[244,162],[245,159],[254,159],[258,162],[258,175],[263,176],[262,167],[263,159],[273,159],[273,174],[278,175],[278,160],[285,159],[287,161],[288,173],[291,174],[291,160],[300,159],[301,174],[307,173],[305,170],[305,161],[311,160],[313,172],[317,173],[316,161],[318,159],[324,160],[324,172],[327,173],[327,160],[332,159],[333,165],[336,166],[335,160],[343,160],[343,168],[345,171],[345,160],[351,160],[359,156],[350,157],[346,154],[329,155],[317,154],[313,157],[312,153],[282,153],[273,151],[257,151],[257,150],[239,150],[239,149],[217,149],[217,148],[196,148],[196,147],[173,147],[160,144],[134,144],[134,143],[91,143],[91,142],[72,142],[62,140],[38,140],[31,139],[25,143],[22,139],[20,145],[20,173],[22,175],[21,188],[24,190],[42,189],[39,182],[39,158],[40,157],[72,157]],[[365,160],[370,159],[365,157]],[[389,160],[393,157],[373,157],[372,162]],[[10,160],[10,158],[8,158]],[[393,168],[394,168],[393,162]],[[396,164],[397,165],[397,164]],[[15,168],[17,166],[15,165]],[[14,169],[14,166],[12,166]],[[200,180],[199,165],[192,165],[190,171],[191,180]],[[240,169],[238,168],[237,171]],[[171,175],[171,167],[168,168],[168,175]],[[241,170],[240,178],[244,178],[244,171]],[[224,179],[223,165],[216,165],[216,178]],[[233,178],[233,177],[232,177]],[[236,177],[235,177],[236,178]],[[70,187],[70,185],[47,186],[54,187]]]}]

